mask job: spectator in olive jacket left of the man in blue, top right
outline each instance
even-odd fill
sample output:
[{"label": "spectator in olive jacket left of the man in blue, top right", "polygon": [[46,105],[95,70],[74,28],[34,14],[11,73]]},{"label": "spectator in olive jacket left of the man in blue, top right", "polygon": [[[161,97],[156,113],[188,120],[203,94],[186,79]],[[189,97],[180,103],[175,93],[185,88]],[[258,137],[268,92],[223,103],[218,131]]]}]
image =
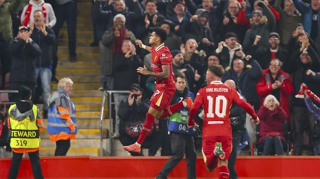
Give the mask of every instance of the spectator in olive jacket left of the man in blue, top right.
[{"label": "spectator in olive jacket left of the man in blue, top right", "polygon": [[291,32],[296,30],[297,24],[302,23],[302,16],[296,9],[292,0],[284,0],[284,8],[281,8],[282,0],[275,0],[274,7],[280,14],[280,20],[277,23],[277,32],[280,36],[280,44],[286,46]]}]

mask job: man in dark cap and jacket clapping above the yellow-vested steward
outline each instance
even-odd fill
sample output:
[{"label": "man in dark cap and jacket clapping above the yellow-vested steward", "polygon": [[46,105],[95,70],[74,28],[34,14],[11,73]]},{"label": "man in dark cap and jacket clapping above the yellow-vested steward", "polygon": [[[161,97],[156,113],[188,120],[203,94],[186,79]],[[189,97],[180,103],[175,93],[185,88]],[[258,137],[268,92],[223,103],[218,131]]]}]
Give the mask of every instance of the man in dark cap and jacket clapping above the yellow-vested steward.
[{"label": "man in dark cap and jacket clapping above the yellow-vested steward", "polygon": [[[19,27],[18,37],[9,45],[8,51],[11,54],[11,71],[9,79],[9,89],[18,90],[18,86],[23,85],[32,90],[34,96],[36,88],[35,60],[42,54],[40,47],[30,38],[32,28]],[[11,102],[17,102],[18,96],[9,96]]]}]

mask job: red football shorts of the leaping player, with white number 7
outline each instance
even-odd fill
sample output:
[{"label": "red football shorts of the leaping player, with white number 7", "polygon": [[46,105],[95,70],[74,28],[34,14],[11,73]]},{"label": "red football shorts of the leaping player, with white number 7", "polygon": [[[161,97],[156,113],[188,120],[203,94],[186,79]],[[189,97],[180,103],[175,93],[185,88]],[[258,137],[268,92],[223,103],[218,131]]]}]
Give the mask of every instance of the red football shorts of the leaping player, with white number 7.
[{"label": "red football shorts of the leaping player, with white number 7", "polygon": [[167,108],[171,103],[174,92],[174,83],[172,85],[156,84],[155,91],[150,98],[151,103],[153,103],[151,104],[151,107],[156,108],[157,110]]}]

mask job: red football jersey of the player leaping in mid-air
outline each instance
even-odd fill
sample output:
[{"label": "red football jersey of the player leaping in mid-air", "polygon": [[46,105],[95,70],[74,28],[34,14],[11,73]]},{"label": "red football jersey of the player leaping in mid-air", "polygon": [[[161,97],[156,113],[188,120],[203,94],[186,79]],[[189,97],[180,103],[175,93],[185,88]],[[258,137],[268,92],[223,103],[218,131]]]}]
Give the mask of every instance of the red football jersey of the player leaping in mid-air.
[{"label": "red football jersey of the player leaping in mid-air", "polygon": [[157,84],[174,84],[174,74],[172,72],[172,54],[168,47],[164,43],[159,45],[156,49],[151,45],[151,60],[152,60],[152,71],[153,72],[162,72],[162,65],[170,66],[169,78],[155,78]]}]

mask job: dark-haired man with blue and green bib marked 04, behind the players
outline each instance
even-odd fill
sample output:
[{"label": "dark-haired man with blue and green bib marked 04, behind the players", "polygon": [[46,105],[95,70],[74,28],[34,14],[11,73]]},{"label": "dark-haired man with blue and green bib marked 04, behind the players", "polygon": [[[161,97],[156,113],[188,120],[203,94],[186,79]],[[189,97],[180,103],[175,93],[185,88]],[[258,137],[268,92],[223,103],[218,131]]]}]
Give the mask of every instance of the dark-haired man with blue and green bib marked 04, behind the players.
[{"label": "dark-haired man with blue and green bib marked 04, behind the players", "polygon": [[[177,73],[175,77],[176,90],[171,100],[171,105],[182,101],[187,97],[194,99],[194,93],[186,88],[186,76],[183,73]],[[187,162],[187,179],[195,179],[195,161],[196,152],[192,134],[195,133],[195,128],[188,128],[189,109],[181,108],[169,116],[168,130],[171,138],[172,157],[165,163],[157,174],[156,179],[167,179],[172,169],[183,159],[186,154]],[[181,127],[182,126],[182,127]]]}]

